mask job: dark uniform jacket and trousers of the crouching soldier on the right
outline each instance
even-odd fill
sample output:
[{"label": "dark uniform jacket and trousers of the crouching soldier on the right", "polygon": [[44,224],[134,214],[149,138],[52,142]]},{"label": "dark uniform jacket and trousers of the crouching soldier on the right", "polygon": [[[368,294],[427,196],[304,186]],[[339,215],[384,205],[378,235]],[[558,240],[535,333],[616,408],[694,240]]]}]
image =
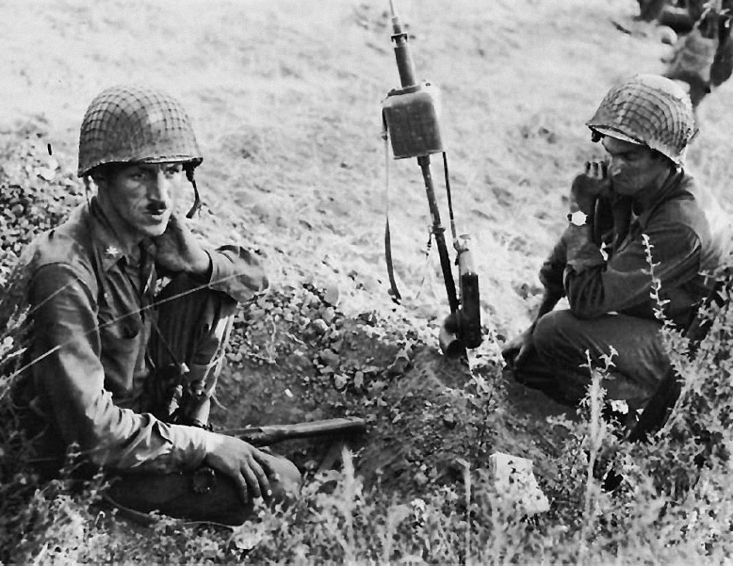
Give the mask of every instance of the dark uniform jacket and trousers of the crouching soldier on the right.
[{"label": "dark uniform jacket and trousers of the crouching soldier on the right", "polygon": [[534,329],[536,352],[517,379],[543,389],[562,402],[575,403],[590,375],[586,351],[602,366],[614,348],[613,379],[604,383],[610,397],[641,406],[655,391],[670,362],[655,317],[652,276],[644,235],[649,237],[655,277],[661,282],[663,312],[686,328],[696,306],[707,297],[728,249],[729,231],[709,191],[682,171],[671,175],[662,196],[636,215],[630,203],[617,199],[616,225],[601,246],[586,245],[567,255],[561,239],[542,265],[539,278],[547,293],[566,297],[569,310],[540,317]]}]

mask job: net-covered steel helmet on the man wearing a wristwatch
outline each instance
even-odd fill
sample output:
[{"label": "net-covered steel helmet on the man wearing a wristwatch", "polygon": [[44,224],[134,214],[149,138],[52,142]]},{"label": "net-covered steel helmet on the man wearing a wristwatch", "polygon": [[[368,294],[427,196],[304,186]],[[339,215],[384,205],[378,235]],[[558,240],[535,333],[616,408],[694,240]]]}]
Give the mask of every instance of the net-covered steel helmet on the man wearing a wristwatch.
[{"label": "net-covered steel helmet on the man wearing a wristwatch", "polygon": [[697,133],[687,92],[660,75],[634,75],[611,87],[586,125],[597,136],[646,145],[678,165]]}]

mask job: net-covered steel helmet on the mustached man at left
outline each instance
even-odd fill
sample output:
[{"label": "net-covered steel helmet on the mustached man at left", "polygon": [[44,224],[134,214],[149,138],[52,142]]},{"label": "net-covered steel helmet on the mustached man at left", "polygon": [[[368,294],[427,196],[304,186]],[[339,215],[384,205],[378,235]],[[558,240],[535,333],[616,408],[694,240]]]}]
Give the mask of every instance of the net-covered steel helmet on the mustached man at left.
[{"label": "net-covered steel helmet on the mustached man at left", "polygon": [[78,176],[103,163],[203,161],[183,106],[166,92],[119,85],[100,92],[81,122]]}]

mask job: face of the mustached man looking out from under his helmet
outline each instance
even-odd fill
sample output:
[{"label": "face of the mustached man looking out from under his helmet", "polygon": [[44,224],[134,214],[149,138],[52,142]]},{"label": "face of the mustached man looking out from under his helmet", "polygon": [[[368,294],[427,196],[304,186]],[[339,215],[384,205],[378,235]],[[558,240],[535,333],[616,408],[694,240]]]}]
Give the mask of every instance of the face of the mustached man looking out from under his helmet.
[{"label": "face of the mustached man looking out from under his helmet", "polygon": [[165,232],[184,180],[180,163],[121,166],[97,180],[100,205],[133,238],[155,238]]}]

